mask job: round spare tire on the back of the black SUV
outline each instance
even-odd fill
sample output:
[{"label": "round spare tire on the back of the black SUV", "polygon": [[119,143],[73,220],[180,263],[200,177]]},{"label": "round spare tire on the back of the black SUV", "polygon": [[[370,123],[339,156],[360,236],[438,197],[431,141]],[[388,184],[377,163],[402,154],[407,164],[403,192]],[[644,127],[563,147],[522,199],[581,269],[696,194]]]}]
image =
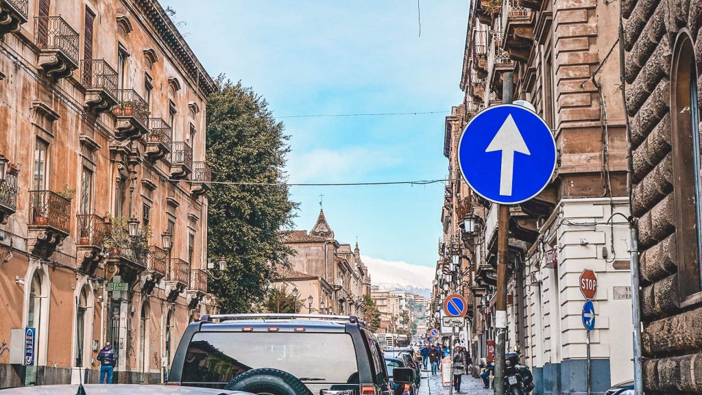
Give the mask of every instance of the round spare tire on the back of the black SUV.
[{"label": "round spare tire on the back of the black SUV", "polygon": [[283,370],[272,368],[251,369],[234,377],[225,386],[230,391],[246,391],[253,394],[312,395],[312,391],[297,377]]}]

